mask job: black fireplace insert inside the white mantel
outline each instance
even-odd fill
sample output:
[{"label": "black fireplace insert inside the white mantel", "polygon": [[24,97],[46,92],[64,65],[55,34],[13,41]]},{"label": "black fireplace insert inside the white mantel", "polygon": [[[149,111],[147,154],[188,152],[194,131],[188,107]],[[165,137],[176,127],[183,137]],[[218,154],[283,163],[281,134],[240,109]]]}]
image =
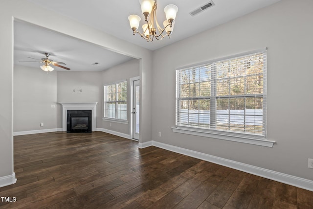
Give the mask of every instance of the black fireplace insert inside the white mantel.
[{"label": "black fireplace insert inside the white mantel", "polygon": [[91,110],[67,110],[67,133],[91,133]]}]

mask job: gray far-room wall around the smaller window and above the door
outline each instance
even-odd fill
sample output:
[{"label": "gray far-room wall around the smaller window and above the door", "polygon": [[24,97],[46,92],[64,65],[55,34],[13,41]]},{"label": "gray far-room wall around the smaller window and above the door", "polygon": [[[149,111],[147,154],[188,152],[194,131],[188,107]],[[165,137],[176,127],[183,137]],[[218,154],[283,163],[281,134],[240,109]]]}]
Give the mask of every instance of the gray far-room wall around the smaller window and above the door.
[{"label": "gray far-room wall around the smaller window and above the door", "polygon": [[[131,84],[130,84],[130,78],[139,76],[139,60],[133,59],[131,61],[125,62],[121,65],[115,66],[113,68],[110,68],[108,70],[104,70],[102,73],[102,80],[103,85],[112,84],[115,82],[119,82],[122,80],[127,80],[128,86],[127,86],[127,118],[129,123],[128,124],[121,124],[116,123],[112,121],[102,121],[102,128],[109,129],[112,131],[120,132],[123,134],[130,134],[130,110],[131,110]],[[102,93],[103,93],[103,85],[102,85]],[[104,100],[104,97],[102,96],[101,102]],[[104,116],[104,107],[102,102],[102,117]],[[110,126],[111,123],[111,126]],[[98,126],[100,127],[100,126]]]}]

